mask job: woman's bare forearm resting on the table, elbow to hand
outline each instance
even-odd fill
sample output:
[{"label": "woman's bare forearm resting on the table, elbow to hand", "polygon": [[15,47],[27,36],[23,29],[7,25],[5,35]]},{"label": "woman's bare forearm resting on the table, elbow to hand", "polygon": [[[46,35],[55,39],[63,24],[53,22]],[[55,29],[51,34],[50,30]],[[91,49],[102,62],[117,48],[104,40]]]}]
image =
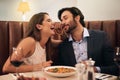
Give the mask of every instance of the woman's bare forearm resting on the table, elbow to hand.
[{"label": "woman's bare forearm resting on the table, elbow to hand", "polygon": [[[31,72],[31,71],[39,71],[42,70],[43,67],[51,66],[52,61],[47,61],[39,64],[34,64],[34,65],[26,65],[23,64],[17,68],[17,72]],[[16,67],[14,67],[10,62],[9,58],[3,68],[4,73],[14,73],[16,72]]]}]

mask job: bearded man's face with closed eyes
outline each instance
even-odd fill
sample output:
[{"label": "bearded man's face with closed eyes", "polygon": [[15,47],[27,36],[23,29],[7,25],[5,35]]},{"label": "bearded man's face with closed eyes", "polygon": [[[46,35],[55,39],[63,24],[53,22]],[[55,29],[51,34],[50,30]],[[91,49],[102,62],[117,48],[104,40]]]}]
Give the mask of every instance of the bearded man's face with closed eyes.
[{"label": "bearded man's face with closed eyes", "polygon": [[68,33],[71,33],[76,28],[75,19],[69,11],[64,11],[62,13],[61,22],[63,24],[63,28],[65,28]]}]

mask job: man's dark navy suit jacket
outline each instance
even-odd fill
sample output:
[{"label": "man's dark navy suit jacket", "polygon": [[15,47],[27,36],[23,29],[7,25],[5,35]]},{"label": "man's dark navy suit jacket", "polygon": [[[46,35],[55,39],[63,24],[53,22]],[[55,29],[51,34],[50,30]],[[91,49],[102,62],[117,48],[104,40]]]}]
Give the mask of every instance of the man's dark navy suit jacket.
[{"label": "man's dark navy suit jacket", "polygon": [[[99,66],[102,73],[117,74],[117,67],[113,61],[114,50],[110,41],[103,31],[89,30],[90,36],[87,37],[88,58],[95,61],[95,66]],[[76,59],[72,46],[72,41],[66,39],[58,47],[57,65],[75,66]]]}]

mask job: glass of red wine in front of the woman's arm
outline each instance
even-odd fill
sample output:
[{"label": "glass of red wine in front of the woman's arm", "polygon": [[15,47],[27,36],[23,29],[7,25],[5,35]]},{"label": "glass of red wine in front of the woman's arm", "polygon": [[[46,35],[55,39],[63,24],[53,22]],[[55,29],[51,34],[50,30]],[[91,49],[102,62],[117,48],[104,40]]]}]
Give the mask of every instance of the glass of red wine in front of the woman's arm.
[{"label": "glass of red wine in front of the woman's arm", "polygon": [[23,63],[22,48],[13,47],[13,53],[10,54],[10,63],[16,67],[16,74],[18,74],[18,67]]}]

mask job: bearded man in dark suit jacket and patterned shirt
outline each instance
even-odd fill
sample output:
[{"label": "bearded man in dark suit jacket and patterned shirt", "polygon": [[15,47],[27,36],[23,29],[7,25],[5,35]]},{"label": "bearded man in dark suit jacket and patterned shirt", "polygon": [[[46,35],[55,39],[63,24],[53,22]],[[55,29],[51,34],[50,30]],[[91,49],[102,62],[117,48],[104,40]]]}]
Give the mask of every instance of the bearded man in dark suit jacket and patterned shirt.
[{"label": "bearded man in dark suit jacket and patterned shirt", "polygon": [[105,32],[87,30],[84,16],[76,7],[62,8],[58,18],[69,36],[58,47],[58,65],[75,66],[92,58],[95,72],[117,74],[113,61],[114,50]]}]

